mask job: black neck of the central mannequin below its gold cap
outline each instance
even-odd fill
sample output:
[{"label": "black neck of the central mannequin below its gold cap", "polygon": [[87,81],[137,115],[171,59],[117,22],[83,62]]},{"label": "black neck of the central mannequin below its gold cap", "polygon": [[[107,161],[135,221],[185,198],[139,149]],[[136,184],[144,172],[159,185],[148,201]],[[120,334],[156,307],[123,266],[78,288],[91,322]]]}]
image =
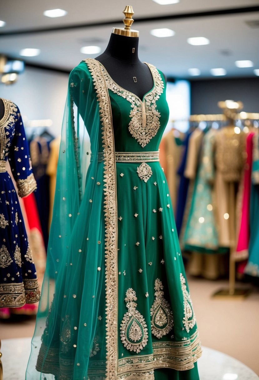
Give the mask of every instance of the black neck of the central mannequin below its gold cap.
[{"label": "black neck of the central mannequin below its gold cap", "polygon": [[138,47],[138,37],[125,37],[112,33],[103,54],[126,63],[138,63]]}]

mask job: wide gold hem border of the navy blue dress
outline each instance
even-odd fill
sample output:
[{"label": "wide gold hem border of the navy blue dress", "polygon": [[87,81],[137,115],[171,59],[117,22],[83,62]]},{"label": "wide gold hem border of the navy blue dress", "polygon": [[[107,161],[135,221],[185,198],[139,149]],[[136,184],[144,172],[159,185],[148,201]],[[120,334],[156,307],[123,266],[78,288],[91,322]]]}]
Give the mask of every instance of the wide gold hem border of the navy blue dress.
[{"label": "wide gold hem border of the navy blue dress", "polygon": [[0,307],[20,307],[39,301],[38,279],[0,284]]}]

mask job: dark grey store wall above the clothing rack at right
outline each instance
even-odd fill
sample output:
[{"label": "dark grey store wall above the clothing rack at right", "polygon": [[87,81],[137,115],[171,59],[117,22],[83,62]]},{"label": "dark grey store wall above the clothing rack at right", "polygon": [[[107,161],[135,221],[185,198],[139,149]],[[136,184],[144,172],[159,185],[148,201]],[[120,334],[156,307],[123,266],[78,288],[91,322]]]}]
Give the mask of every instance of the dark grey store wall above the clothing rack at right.
[{"label": "dark grey store wall above the clothing rack at right", "polygon": [[218,114],[220,100],[241,100],[243,111],[259,112],[259,78],[191,81],[191,114]]}]

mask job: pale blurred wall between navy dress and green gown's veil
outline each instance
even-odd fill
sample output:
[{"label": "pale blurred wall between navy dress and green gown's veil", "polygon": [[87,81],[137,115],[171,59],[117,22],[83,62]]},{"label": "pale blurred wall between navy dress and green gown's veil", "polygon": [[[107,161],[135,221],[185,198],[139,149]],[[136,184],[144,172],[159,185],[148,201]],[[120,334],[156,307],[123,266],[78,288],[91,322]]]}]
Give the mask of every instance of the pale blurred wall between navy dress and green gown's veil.
[{"label": "pale blurred wall between navy dress and green gown's veil", "polygon": [[68,74],[26,68],[18,81],[0,86],[0,97],[12,100],[26,120],[51,119],[52,134],[60,134],[66,101]]}]

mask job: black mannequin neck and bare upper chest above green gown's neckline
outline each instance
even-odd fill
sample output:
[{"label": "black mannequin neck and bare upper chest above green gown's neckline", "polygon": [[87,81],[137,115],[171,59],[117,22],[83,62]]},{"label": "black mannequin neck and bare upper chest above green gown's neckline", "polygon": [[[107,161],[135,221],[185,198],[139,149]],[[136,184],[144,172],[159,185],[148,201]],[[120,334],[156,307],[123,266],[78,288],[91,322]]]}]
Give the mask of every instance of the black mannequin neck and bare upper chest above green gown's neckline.
[{"label": "black mannequin neck and bare upper chest above green gown's neckline", "polygon": [[139,60],[138,45],[138,37],[112,33],[106,50],[96,60],[102,63],[114,82],[142,99],[154,83],[148,66]]}]

